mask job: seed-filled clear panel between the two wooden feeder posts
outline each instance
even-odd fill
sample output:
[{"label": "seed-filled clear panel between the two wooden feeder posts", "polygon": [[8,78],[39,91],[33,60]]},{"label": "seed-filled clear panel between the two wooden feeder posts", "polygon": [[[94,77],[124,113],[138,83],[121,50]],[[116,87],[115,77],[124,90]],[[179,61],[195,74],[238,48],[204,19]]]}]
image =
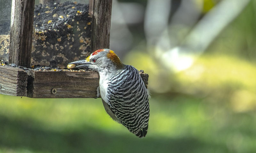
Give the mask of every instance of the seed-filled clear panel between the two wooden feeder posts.
[{"label": "seed-filled clear panel between the two wooden feeder posts", "polygon": [[33,25],[31,65],[64,68],[91,52],[88,0],[36,0]]}]

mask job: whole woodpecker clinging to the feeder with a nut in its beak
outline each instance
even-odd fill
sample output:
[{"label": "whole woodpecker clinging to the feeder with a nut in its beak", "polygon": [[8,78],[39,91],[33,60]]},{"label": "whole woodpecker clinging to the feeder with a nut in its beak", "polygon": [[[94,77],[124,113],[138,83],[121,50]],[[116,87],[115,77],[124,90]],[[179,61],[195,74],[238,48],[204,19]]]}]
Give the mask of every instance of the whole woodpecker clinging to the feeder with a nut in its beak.
[{"label": "whole woodpecker clinging to the feeder with a nut in its beak", "polygon": [[148,132],[149,94],[139,71],[131,65],[124,65],[109,49],[96,50],[85,60],[69,63],[74,64],[77,65],[75,68],[89,68],[99,73],[100,86],[95,98],[101,97],[106,112],[113,120],[136,136],[145,137]]}]

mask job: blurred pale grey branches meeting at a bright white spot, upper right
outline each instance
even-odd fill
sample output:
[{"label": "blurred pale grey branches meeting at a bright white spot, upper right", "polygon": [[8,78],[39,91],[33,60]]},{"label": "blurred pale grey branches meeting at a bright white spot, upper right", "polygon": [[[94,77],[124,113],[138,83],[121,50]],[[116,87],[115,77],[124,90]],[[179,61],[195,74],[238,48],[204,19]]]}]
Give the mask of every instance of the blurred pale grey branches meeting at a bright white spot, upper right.
[{"label": "blurred pale grey branches meeting at a bright white spot, upper right", "polygon": [[[157,4],[160,2],[162,6],[166,6],[170,4],[171,0],[157,2],[149,0],[148,2],[148,11],[145,15],[145,33],[148,47],[152,48],[152,45],[155,46],[154,43],[156,43],[154,56],[161,59],[162,64],[170,70],[180,71],[193,64],[194,58],[204,52],[216,36],[243,11],[250,0],[222,0],[202,19],[199,19],[199,17],[203,3],[198,4],[196,0],[182,0],[178,11],[173,15],[168,26],[166,26],[165,21],[169,16],[167,11],[170,12],[170,8],[167,6],[164,9],[162,8],[161,11],[155,8],[158,11],[153,12],[160,16],[161,21],[154,24],[152,22],[154,18],[148,18],[148,16],[152,16],[152,11],[149,10],[156,5],[160,5]],[[148,21],[149,19],[152,21]],[[164,26],[152,28],[161,23]]]}]

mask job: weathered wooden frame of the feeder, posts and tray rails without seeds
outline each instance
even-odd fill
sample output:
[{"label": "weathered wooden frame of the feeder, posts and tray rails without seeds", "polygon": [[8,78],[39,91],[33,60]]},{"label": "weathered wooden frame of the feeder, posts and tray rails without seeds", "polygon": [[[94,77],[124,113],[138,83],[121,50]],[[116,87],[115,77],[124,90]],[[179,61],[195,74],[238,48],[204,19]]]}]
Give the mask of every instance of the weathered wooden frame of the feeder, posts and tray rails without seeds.
[{"label": "weathered wooden frame of the feeder, posts and tray rails without seeds", "polygon": [[[40,0],[41,4],[52,0]],[[9,62],[30,67],[35,0],[12,0]],[[109,48],[112,0],[89,0],[91,51]],[[148,74],[140,73],[146,86]],[[97,72],[24,71],[0,66],[0,94],[31,98],[93,98]]]}]

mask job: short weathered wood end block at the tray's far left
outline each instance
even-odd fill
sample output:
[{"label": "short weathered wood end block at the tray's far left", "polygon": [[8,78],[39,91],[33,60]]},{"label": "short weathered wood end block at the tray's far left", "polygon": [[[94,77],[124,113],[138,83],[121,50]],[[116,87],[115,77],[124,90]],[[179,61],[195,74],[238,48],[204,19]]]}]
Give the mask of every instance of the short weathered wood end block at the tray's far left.
[{"label": "short weathered wood end block at the tray's far left", "polygon": [[28,74],[22,69],[0,66],[0,94],[27,96]]}]

